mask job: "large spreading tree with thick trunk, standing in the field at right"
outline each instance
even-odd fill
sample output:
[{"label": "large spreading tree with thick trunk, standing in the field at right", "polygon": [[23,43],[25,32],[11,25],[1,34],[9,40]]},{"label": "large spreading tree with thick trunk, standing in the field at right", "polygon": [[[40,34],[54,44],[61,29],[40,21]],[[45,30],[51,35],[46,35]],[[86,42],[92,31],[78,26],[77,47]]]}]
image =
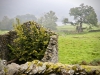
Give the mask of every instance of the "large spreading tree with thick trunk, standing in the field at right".
[{"label": "large spreading tree with thick trunk, standing in the field at right", "polygon": [[77,28],[79,32],[82,32],[82,25],[86,23],[90,26],[96,26],[98,19],[93,7],[81,4],[79,7],[70,9],[70,16],[74,16],[76,23],[79,23]]}]

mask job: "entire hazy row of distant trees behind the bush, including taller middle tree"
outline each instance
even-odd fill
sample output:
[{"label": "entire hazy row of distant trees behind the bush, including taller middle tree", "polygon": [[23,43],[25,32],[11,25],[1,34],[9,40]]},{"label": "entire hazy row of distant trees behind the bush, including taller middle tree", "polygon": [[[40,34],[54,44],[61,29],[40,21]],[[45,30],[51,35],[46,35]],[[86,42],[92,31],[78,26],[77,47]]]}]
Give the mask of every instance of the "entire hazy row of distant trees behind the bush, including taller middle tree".
[{"label": "entire hazy row of distant trees behind the bush, including taller middle tree", "polygon": [[4,16],[3,19],[0,21],[0,30],[12,30],[13,24],[16,24],[16,18],[19,19],[21,24],[27,21],[34,20],[37,23],[51,30],[56,30],[56,26],[57,26],[56,22],[58,19],[57,16],[55,15],[55,12],[53,11],[47,12],[40,18],[36,18],[32,14],[17,15],[14,18],[9,18],[8,16]]}]

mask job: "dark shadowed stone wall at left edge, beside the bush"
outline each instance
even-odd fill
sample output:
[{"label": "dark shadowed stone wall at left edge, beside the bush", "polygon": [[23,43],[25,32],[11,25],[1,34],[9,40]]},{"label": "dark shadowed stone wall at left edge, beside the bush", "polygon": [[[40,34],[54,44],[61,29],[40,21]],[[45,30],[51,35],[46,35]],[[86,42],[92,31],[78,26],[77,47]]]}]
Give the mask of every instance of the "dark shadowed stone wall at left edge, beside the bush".
[{"label": "dark shadowed stone wall at left edge, beside the bush", "polygon": [[9,48],[8,44],[13,44],[16,36],[15,31],[9,31],[7,34],[0,35],[0,58],[8,60]]}]

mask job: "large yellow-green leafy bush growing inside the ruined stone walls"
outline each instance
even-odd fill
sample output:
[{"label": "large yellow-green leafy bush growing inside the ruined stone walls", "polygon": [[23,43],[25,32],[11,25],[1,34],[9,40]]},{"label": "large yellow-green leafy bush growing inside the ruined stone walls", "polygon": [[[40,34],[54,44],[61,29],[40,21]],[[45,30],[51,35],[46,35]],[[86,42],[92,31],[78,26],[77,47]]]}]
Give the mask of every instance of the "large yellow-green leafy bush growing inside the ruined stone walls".
[{"label": "large yellow-green leafy bush growing inside the ruined stone walls", "polygon": [[41,60],[44,56],[49,43],[50,36],[53,35],[49,30],[38,25],[36,22],[26,22],[14,25],[17,37],[14,44],[10,47],[10,60],[17,58],[19,61]]}]

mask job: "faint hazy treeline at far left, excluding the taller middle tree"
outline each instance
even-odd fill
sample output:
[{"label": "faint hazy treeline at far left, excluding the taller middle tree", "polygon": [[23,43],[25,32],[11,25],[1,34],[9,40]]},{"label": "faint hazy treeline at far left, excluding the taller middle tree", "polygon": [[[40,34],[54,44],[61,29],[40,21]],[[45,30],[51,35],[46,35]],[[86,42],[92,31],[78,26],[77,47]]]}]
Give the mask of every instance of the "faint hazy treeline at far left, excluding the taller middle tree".
[{"label": "faint hazy treeline at far left, excluding the taller middle tree", "polygon": [[16,18],[20,20],[20,23],[34,20],[36,21],[37,18],[34,15],[26,14],[26,15],[17,15],[14,18],[9,18],[8,16],[4,16],[3,19],[0,21],[0,30],[12,30],[13,24],[16,23]]}]

